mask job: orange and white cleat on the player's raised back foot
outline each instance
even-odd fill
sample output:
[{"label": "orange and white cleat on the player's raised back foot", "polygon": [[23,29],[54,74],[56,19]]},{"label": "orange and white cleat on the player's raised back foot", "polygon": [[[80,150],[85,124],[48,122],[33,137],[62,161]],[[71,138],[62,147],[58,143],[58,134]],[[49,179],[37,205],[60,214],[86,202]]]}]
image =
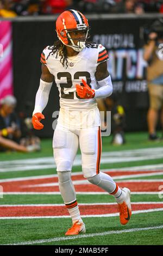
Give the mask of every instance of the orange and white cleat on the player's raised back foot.
[{"label": "orange and white cleat on the player's raised back foot", "polygon": [[126,193],[126,199],[122,204],[118,204],[118,211],[120,212],[120,222],[122,225],[126,225],[131,217],[131,202],[130,202],[130,190],[126,187],[122,188],[122,191]]}]

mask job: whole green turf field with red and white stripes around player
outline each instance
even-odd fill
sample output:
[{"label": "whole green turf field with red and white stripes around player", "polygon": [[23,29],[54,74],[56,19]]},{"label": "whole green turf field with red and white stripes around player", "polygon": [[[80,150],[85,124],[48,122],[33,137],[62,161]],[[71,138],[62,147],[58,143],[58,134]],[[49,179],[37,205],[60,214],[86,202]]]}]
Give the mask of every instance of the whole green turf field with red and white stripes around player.
[{"label": "whole green turf field with red and white stripes around player", "polygon": [[[97,205],[96,212],[97,215],[102,216],[90,217],[88,214],[83,217],[86,234],[73,237],[64,235],[71,226],[70,217],[56,215],[55,212],[46,217],[43,215],[43,211],[48,207],[46,205],[55,204],[55,207],[58,205],[64,208],[62,198],[57,193],[57,186],[55,186],[56,190],[53,188],[53,182],[57,179],[55,178],[56,168],[49,167],[45,163],[40,164],[40,168],[36,169],[37,161],[42,157],[49,157],[47,162],[52,160],[51,139],[42,140],[40,153],[2,153],[0,185],[3,186],[5,193],[3,198],[0,198],[0,244],[163,245],[163,192],[161,193],[161,186],[163,190],[163,154],[161,153],[163,141],[149,142],[146,132],[127,133],[126,140],[125,145],[113,146],[110,144],[111,137],[103,137],[104,154],[101,169],[111,172],[116,182],[120,182],[121,185],[127,184],[133,192],[131,193],[133,203],[131,220],[127,225],[121,225],[117,214],[111,212],[112,204],[109,206],[110,216],[106,217],[105,204],[114,203],[114,198],[100,191],[92,193],[91,187],[84,183],[83,178],[81,188],[78,190],[77,187],[79,208],[83,207],[82,215],[86,211],[84,207],[91,208],[93,204],[103,203],[103,205]],[[107,153],[108,155],[104,157]],[[78,151],[79,154],[80,151]],[[130,154],[132,158],[129,158]],[[152,158],[152,155],[155,157]],[[28,159],[29,164],[25,162]],[[31,162],[36,162],[30,165],[30,159]],[[80,173],[82,174],[82,167],[77,161],[73,167],[73,175],[78,177]],[[40,186],[41,182],[43,184],[52,182],[52,185],[43,187]],[[88,206],[84,206],[85,204]],[[41,206],[37,205],[45,205],[45,208],[41,211]],[[36,215],[33,215],[35,206],[38,212],[35,211]],[[34,218],[35,216],[37,218]]]}]

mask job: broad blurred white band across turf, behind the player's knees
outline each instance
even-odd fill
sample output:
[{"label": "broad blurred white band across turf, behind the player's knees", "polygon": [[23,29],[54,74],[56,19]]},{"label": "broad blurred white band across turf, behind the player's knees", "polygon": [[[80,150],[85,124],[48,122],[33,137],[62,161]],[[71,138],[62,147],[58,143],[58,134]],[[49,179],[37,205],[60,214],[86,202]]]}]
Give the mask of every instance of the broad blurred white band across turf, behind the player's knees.
[{"label": "broad blurred white band across turf, behind the player's knees", "polygon": [[[163,148],[134,149],[102,153],[101,163],[132,162],[149,159],[162,159]],[[77,155],[73,166],[81,165],[81,155]],[[0,172],[26,171],[56,168],[53,157],[37,159],[1,161]]]}]

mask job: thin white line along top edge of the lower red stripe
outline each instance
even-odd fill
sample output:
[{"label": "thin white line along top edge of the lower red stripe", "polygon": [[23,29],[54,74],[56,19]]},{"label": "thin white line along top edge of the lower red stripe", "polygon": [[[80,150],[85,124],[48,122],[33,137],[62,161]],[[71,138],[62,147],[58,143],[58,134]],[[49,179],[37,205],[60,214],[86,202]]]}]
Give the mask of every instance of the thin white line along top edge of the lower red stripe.
[{"label": "thin white line along top edge of the lower red stripe", "polygon": [[[163,202],[131,202],[134,204],[163,204]],[[83,203],[80,205],[117,205],[117,203]],[[49,206],[65,206],[65,204],[0,204],[1,207],[49,207]]]}]

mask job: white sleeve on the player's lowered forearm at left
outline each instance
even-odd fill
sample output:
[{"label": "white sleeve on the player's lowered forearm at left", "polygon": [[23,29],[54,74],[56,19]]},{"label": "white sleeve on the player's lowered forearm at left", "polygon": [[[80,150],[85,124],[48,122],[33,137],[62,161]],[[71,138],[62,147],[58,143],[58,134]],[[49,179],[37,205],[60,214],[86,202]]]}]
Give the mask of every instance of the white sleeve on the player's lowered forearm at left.
[{"label": "white sleeve on the player's lowered forearm at left", "polygon": [[33,115],[35,113],[42,113],[43,109],[46,107],[52,83],[53,82],[48,83],[40,79],[40,86],[36,93]]}]

